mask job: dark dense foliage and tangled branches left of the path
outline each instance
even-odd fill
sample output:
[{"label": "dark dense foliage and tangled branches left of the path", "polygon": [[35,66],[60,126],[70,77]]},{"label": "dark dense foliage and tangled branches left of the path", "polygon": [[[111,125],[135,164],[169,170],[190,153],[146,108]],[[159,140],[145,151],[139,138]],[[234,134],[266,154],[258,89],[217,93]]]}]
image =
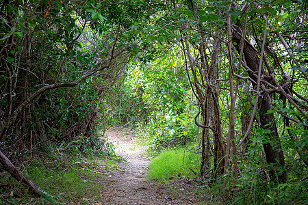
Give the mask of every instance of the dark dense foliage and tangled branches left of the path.
[{"label": "dark dense foliage and tangled branches left of the path", "polygon": [[77,138],[95,144],[97,124],[106,127],[110,120],[102,102],[139,49],[129,27],[149,15],[138,12],[138,5],[124,14],[124,7],[94,1],[3,1],[4,148],[15,146],[15,155],[27,155],[51,141],[63,146]]}]

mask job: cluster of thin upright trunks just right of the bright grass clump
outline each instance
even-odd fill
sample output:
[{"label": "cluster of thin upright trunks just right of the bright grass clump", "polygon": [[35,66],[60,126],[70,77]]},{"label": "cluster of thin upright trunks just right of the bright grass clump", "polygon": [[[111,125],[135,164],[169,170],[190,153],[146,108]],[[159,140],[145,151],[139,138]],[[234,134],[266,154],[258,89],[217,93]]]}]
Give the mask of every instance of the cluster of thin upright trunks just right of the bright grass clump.
[{"label": "cluster of thin upright trunks just right of the bright grass clump", "polygon": [[[201,41],[201,44],[203,42]],[[216,38],[214,42],[214,50],[211,56],[211,66],[207,64],[207,54],[205,53],[205,49],[200,49],[201,53],[201,65],[196,63],[194,60],[194,57],[192,57],[192,54],[190,53],[190,47],[188,44],[188,40],[184,42],[182,41],[181,44],[178,44],[181,49],[183,49],[183,52],[185,53],[185,57],[187,55],[190,69],[192,72],[192,77],[194,79],[190,79],[190,72],[188,68],[186,68],[188,77],[190,79],[190,85],[192,86],[192,91],[194,92],[194,95],[198,99],[198,106],[201,109],[202,115],[205,116],[205,103],[207,98],[211,98],[211,102],[213,103],[213,113],[211,115],[211,126],[207,126],[204,123],[206,123],[205,120],[203,120],[203,124],[198,124],[195,122],[197,126],[200,126],[201,128],[211,128],[213,131],[213,141],[214,141],[214,170],[215,174],[214,177],[220,176],[224,173],[224,143],[223,143],[223,137],[222,137],[222,129],[221,129],[221,113],[220,113],[220,105],[219,105],[219,84],[217,83],[218,79],[218,54],[220,49],[221,40]],[[204,50],[204,51],[203,51]],[[198,77],[198,74],[200,74],[200,77]],[[207,92],[204,92],[207,91]],[[207,99],[209,101],[209,99]],[[211,104],[209,104],[211,106]],[[198,113],[199,114],[199,113]],[[197,115],[198,116],[198,115]],[[196,116],[196,117],[197,117]],[[204,119],[204,118],[203,118]],[[208,119],[209,120],[209,119]],[[202,137],[206,137],[209,135],[202,135]],[[205,174],[205,164],[209,164],[209,161],[206,161],[207,158],[210,157],[209,153],[207,151],[210,150],[210,144],[208,143],[205,145],[205,141],[209,142],[208,139],[202,139],[203,143],[203,162],[201,163],[201,174]],[[210,166],[208,166],[210,167]],[[203,170],[202,170],[203,169]]]}]

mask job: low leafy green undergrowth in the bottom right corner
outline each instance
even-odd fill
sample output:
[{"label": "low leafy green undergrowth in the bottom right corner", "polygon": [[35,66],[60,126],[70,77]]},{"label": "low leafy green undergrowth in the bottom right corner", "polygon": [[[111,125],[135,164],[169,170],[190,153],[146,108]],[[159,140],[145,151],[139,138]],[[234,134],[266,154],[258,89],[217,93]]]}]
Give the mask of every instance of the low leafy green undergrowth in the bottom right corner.
[{"label": "low leafy green undergrowth in the bottom right corner", "polygon": [[201,187],[213,196],[211,203],[308,204],[307,180],[275,184],[264,182],[264,178],[251,169],[243,171],[242,176],[236,179],[229,173],[211,182],[203,182]]}]

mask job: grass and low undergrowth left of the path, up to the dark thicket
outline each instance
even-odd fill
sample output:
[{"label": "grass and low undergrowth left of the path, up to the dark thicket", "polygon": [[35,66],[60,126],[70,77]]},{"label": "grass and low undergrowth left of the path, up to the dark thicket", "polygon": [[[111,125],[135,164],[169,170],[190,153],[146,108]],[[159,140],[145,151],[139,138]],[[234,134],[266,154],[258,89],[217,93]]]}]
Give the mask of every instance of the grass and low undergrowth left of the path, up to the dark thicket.
[{"label": "grass and low undergrowth left of the path, up to the dark thicket", "polygon": [[[101,135],[103,137],[103,135]],[[100,202],[106,188],[104,171],[120,169],[112,143],[83,135],[75,141],[25,159],[19,169],[49,195],[36,197],[0,167],[0,204],[93,204]],[[44,146],[46,147],[46,146]]]}]

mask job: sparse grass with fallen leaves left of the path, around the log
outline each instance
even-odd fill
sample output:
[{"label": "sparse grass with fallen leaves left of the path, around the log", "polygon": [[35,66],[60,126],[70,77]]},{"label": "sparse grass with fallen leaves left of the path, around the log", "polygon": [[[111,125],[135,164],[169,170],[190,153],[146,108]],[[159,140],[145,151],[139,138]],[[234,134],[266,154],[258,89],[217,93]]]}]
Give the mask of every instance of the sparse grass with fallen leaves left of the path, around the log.
[{"label": "sparse grass with fallen leaves left of the path, around the log", "polygon": [[103,200],[102,195],[108,185],[105,174],[101,173],[109,167],[119,169],[112,161],[89,161],[87,163],[43,165],[42,162],[31,163],[24,170],[33,182],[53,198],[42,196],[35,198],[23,185],[12,176],[3,172],[0,184],[8,183],[8,187],[0,187],[0,204],[94,204]]}]

